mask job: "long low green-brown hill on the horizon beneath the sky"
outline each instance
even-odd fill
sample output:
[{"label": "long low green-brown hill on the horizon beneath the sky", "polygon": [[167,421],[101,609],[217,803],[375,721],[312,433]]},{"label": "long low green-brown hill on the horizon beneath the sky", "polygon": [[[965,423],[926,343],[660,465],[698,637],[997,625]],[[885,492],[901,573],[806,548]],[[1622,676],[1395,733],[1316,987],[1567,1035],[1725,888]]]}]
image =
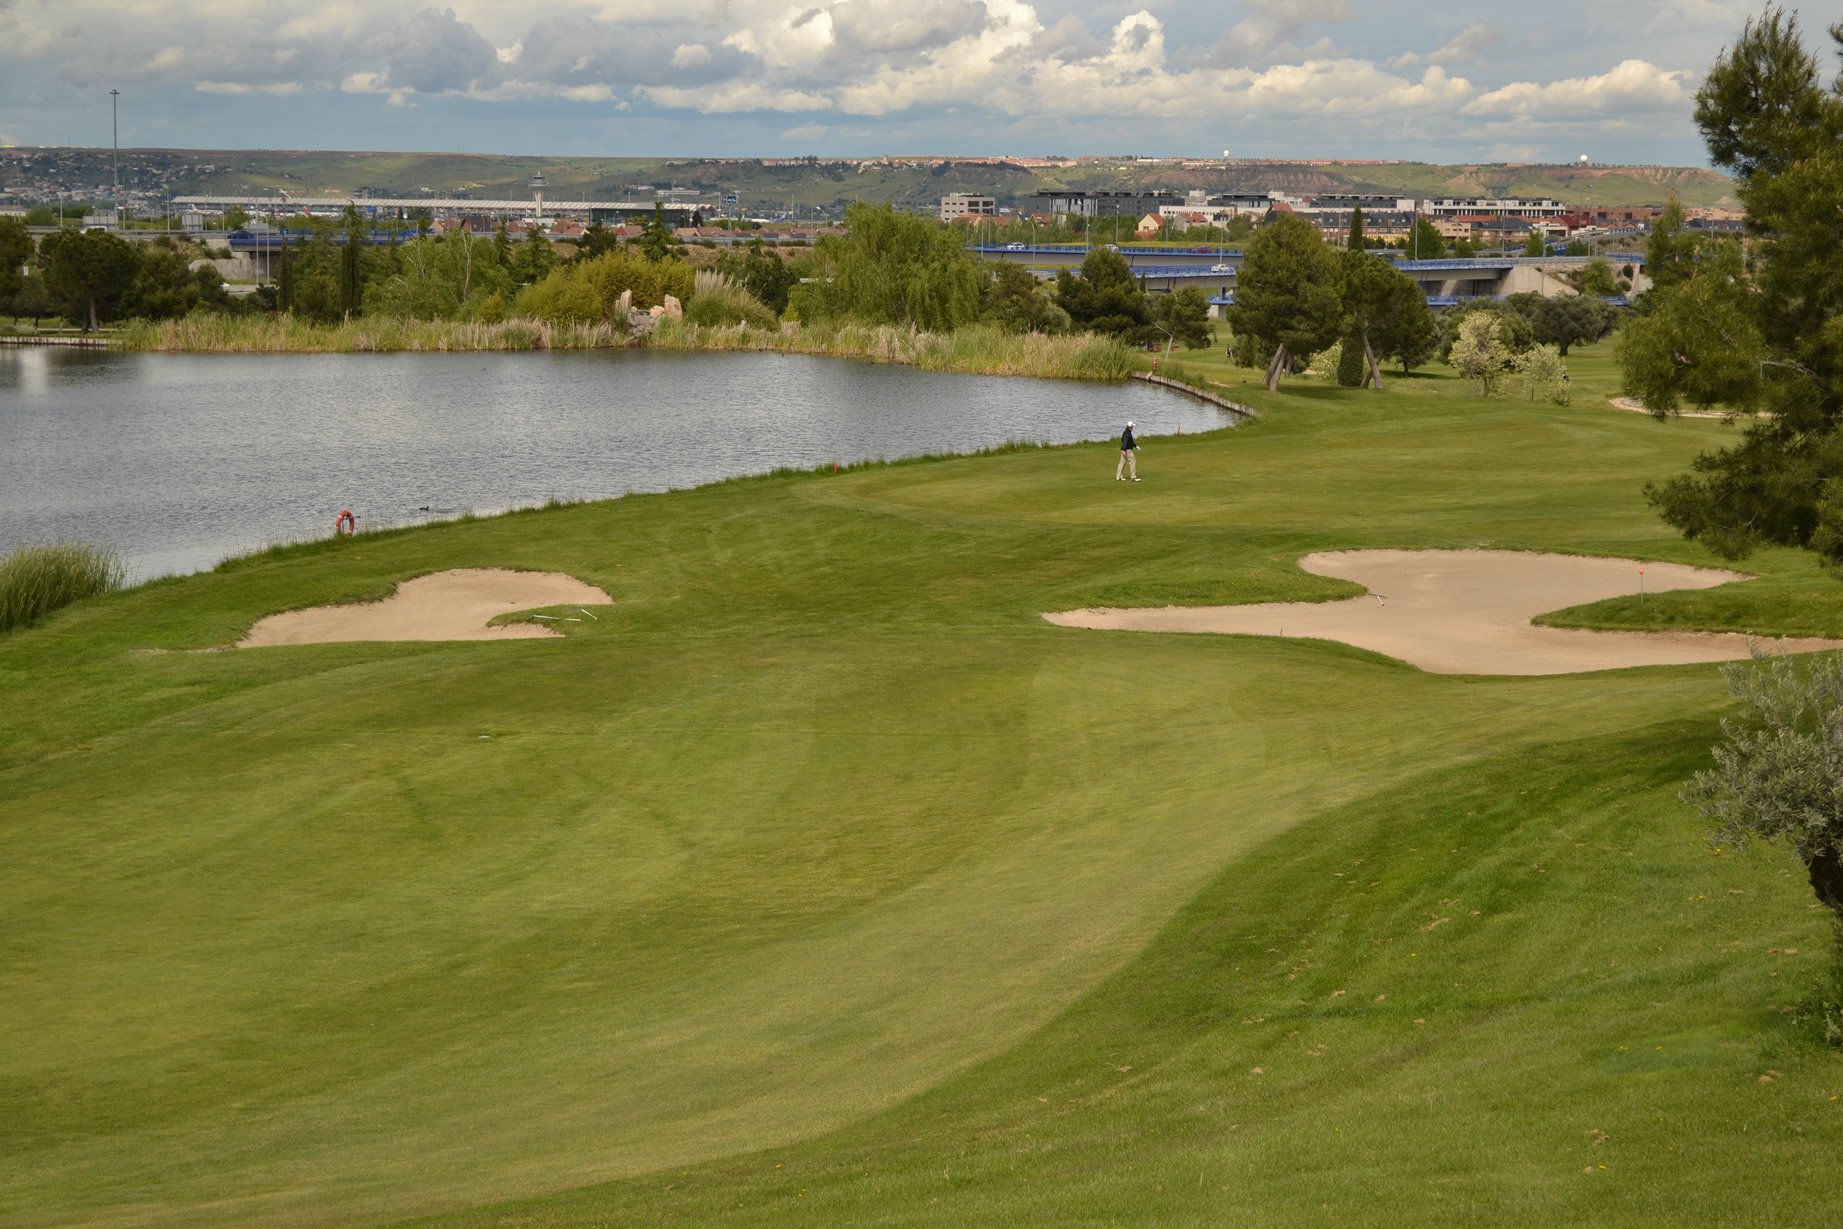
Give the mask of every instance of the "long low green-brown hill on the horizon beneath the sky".
[{"label": "long low green-brown hill on the horizon beneath the sky", "polygon": [[[267,195],[529,197],[542,173],[549,199],[649,199],[665,188],[735,193],[748,212],[837,212],[851,201],[927,208],[947,192],[1015,205],[1043,188],[1283,190],[1401,195],[1535,195],[1570,205],[1734,205],[1734,184],[1703,168],[1430,162],[1135,162],[1084,158],[1058,166],[944,158],[549,158],[479,153],[345,153],[291,149],[123,149],[122,186],[138,197],[203,192]],[[107,149],[0,149],[0,195],[107,193]]]}]

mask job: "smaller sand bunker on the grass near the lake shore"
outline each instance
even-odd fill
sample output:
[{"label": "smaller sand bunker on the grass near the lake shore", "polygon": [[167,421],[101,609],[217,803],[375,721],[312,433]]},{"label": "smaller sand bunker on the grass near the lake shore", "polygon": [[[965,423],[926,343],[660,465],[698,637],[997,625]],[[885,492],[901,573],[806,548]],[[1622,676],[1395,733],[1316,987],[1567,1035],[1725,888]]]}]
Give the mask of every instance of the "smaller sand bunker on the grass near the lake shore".
[{"label": "smaller sand bunker on the grass near the lake shore", "polygon": [[536,623],[487,626],[487,621],[514,610],[608,601],[593,584],[560,571],[459,568],[404,580],[382,603],[269,615],[238,641],[238,649],[348,639],[538,639],[557,632]]}]

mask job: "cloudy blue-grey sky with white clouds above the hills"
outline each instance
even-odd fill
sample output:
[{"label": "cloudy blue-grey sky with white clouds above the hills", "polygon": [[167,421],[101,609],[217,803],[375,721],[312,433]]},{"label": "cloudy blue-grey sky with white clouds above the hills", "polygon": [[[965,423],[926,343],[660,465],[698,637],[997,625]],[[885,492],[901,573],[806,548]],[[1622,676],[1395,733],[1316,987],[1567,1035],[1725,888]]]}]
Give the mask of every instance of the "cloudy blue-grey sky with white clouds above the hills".
[{"label": "cloudy blue-grey sky with white clouds above the hills", "polygon": [[1701,166],[1760,2],[0,0],[0,144]]}]

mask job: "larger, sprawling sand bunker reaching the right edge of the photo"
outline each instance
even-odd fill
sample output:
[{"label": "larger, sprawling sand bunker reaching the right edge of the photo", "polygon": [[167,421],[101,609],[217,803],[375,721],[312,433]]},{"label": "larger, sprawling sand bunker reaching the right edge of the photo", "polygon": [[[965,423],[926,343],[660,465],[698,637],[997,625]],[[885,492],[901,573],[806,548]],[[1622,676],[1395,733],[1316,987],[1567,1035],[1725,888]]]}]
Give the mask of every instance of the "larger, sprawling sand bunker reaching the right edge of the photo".
[{"label": "larger, sprawling sand bunker reaching the right edge of the photo", "polygon": [[[1734,661],[1749,638],[1712,632],[1581,632],[1533,626],[1546,610],[1644,590],[1707,590],[1745,580],[1736,571],[1579,558],[1524,551],[1327,551],[1299,566],[1356,580],[1366,597],[1340,603],[1065,610],[1062,626],[1130,632],[1231,632],[1336,639],[1401,658],[1434,674],[1572,674],[1627,665]],[[1760,639],[1775,652],[1843,649],[1834,639]]]}]

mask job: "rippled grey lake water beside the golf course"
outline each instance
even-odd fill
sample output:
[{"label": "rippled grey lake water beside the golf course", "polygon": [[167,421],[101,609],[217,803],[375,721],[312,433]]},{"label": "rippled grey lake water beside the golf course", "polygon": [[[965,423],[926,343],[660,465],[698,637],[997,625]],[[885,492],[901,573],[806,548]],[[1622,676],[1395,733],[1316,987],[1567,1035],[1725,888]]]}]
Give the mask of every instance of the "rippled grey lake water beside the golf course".
[{"label": "rippled grey lake water beside the golf course", "polygon": [[[1209,431],[1148,385],[781,354],[0,350],[0,553],[76,538],[146,579],[363,527],[776,466]],[[1111,459],[1104,468],[1111,470]],[[1111,479],[1111,474],[1098,477]]]}]

